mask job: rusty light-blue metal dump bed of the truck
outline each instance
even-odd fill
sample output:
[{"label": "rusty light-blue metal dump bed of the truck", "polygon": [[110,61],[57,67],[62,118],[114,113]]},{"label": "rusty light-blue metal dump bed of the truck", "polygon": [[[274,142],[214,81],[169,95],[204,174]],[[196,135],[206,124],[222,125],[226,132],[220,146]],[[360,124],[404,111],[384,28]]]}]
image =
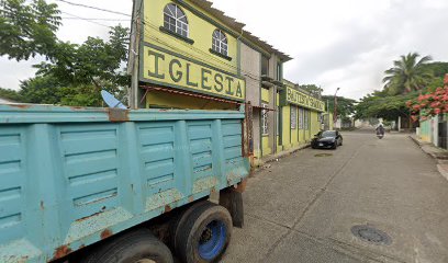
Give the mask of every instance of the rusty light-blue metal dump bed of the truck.
[{"label": "rusty light-blue metal dump bed of the truck", "polygon": [[0,105],[0,262],[66,259],[243,185],[244,117]]}]

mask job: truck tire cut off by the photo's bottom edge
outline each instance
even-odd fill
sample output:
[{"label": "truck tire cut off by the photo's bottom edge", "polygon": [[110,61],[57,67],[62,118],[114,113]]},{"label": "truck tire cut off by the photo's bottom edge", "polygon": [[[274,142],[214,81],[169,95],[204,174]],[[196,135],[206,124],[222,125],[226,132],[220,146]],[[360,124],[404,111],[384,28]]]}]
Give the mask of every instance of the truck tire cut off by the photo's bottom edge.
[{"label": "truck tire cut off by the photo's bottom edge", "polygon": [[131,231],[105,241],[82,262],[135,263],[139,260],[152,260],[157,263],[173,262],[168,247],[147,229]]}]

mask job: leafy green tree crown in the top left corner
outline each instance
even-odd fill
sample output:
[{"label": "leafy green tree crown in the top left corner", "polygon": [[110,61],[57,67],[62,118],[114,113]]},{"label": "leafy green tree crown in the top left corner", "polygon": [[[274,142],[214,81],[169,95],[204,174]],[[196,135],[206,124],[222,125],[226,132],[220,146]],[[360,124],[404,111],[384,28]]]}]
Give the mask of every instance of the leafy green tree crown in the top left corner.
[{"label": "leafy green tree crown in the top left corner", "polygon": [[44,0],[0,0],[0,56],[18,61],[53,57],[59,13],[57,4]]}]

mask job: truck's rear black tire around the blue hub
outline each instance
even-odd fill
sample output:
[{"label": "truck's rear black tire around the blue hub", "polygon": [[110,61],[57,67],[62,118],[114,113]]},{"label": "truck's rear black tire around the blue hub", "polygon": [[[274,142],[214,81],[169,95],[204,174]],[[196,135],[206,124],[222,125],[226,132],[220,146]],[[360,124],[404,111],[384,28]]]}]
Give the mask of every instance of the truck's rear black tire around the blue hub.
[{"label": "truck's rear black tire around the blue hub", "polygon": [[[211,226],[219,225],[224,231],[211,231]],[[219,205],[204,205],[197,207],[179,226],[180,231],[177,237],[177,253],[180,260],[184,263],[208,263],[217,262],[221,260],[232,237],[232,217],[228,210]],[[200,245],[209,242],[203,241],[204,235],[213,239],[214,235],[221,235],[216,245],[216,250],[205,258],[200,252]],[[202,244],[201,244],[202,243]],[[212,256],[212,258],[210,258]]]}]

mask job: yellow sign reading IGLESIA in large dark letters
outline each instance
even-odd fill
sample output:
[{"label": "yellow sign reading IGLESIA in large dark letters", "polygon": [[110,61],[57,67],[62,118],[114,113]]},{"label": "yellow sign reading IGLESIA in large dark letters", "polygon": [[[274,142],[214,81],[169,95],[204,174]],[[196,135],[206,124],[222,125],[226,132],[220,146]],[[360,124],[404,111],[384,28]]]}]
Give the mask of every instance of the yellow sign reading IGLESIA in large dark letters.
[{"label": "yellow sign reading IGLESIA in large dark letters", "polygon": [[142,60],[141,80],[144,82],[234,101],[244,101],[246,98],[245,79],[193,58],[145,45]]}]

